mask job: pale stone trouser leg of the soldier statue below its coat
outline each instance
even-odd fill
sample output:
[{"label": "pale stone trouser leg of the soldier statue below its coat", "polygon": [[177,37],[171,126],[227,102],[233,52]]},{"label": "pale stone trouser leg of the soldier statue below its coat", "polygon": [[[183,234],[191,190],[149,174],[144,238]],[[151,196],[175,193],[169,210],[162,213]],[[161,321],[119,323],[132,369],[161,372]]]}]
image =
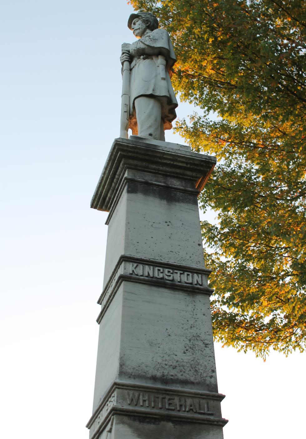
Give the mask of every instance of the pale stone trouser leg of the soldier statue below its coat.
[{"label": "pale stone trouser leg of the soldier statue below its coat", "polygon": [[134,101],[138,135],[149,139],[165,140],[161,104],[154,97],[140,96]]}]

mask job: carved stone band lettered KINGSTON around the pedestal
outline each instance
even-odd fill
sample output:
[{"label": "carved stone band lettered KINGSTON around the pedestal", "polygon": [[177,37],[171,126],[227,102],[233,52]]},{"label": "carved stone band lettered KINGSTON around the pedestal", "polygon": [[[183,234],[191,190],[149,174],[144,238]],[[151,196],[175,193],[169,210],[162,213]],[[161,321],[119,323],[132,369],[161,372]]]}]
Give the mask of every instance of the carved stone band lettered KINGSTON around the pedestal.
[{"label": "carved stone band lettered KINGSTON around the pedestal", "polygon": [[123,281],[211,295],[213,290],[207,284],[210,273],[206,268],[121,255],[98,299],[101,311],[96,321],[100,324]]}]

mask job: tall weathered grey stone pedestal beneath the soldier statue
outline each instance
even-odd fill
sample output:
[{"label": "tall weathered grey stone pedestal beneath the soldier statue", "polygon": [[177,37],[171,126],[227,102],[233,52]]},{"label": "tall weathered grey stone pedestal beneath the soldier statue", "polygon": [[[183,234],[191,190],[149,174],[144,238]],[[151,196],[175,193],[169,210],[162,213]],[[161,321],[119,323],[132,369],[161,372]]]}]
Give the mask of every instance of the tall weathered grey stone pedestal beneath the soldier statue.
[{"label": "tall weathered grey stone pedestal beneath the soldier statue", "polygon": [[116,139],[91,207],[110,212],[90,439],[221,439],[197,195],[215,158]]}]

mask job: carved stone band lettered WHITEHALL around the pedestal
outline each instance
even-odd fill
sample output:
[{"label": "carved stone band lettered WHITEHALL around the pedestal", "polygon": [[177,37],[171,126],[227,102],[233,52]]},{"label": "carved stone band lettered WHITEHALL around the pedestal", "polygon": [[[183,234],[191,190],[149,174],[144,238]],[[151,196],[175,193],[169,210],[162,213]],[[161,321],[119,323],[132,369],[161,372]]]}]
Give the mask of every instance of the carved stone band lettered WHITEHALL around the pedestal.
[{"label": "carved stone band lettered WHITEHALL around the pedestal", "polygon": [[154,417],[224,426],[220,403],[224,395],[191,389],[114,381],[86,425],[96,439],[114,414]]}]

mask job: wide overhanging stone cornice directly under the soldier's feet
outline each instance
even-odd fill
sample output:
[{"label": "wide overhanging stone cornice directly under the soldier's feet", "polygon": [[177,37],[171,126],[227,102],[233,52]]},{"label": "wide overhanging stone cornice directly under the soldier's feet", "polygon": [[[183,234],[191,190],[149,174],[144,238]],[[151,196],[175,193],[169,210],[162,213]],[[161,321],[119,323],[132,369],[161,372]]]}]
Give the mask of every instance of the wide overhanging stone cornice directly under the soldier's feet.
[{"label": "wide overhanging stone cornice directly under the soldier's feet", "polygon": [[[91,207],[110,212],[126,169],[145,169],[151,173],[184,177],[194,182],[195,190],[199,193],[215,164],[216,158],[210,155],[169,148],[160,144],[148,144],[134,139],[115,139],[93,195]],[[183,187],[175,186],[171,189],[184,190]]]}]

